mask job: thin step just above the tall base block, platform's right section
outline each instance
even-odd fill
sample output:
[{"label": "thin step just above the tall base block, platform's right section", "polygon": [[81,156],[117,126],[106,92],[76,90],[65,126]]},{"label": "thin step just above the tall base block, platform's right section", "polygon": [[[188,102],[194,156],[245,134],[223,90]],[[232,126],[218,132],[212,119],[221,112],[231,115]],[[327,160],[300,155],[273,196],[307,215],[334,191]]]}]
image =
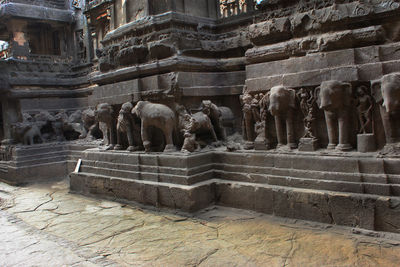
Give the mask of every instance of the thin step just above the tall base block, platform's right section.
[{"label": "thin step just above the tall base block, platform's right section", "polygon": [[335,192],[350,192],[359,194],[391,195],[391,185],[377,183],[360,183],[335,180],[317,180],[277,176],[269,174],[247,174],[238,172],[214,171],[215,178],[225,181],[268,184],[292,188],[328,190]]}]

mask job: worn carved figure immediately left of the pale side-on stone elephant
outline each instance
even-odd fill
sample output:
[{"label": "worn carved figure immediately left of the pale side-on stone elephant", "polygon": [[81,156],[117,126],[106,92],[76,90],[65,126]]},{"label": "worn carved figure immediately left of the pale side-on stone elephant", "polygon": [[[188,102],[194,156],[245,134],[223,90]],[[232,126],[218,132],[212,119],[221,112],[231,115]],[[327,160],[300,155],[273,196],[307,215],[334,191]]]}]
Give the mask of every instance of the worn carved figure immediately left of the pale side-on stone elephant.
[{"label": "worn carved figure immediately left of the pale side-on stone elephant", "polygon": [[128,138],[128,151],[137,151],[140,150],[138,142],[135,142],[134,137],[140,134],[139,127],[136,127],[134,118],[131,114],[133,109],[133,105],[131,102],[126,102],[122,105],[121,110],[119,111],[118,121],[117,121],[117,145],[115,146],[115,150],[123,149],[123,136],[125,135]]}]

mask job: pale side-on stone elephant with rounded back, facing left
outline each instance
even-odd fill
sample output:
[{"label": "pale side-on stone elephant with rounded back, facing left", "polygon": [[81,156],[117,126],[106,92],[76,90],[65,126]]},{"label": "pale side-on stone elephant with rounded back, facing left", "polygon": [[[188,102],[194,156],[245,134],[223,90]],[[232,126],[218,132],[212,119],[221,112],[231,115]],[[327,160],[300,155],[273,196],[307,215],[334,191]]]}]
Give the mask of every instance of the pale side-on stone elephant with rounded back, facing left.
[{"label": "pale side-on stone elephant with rounded back, facing left", "polygon": [[172,134],[176,127],[175,113],[163,104],[155,104],[149,101],[139,101],[132,109],[132,114],[141,119],[141,136],[146,152],[151,151],[151,135],[149,127],[160,129],[165,137],[164,152],[176,151]]}]

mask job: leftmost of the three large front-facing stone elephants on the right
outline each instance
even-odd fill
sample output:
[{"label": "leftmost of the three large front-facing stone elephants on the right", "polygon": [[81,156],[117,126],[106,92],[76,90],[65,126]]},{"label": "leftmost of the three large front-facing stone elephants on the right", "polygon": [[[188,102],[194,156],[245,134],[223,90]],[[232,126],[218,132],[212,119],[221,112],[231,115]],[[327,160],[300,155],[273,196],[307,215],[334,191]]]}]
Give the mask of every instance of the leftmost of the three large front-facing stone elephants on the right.
[{"label": "leftmost of the three large front-facing stone elephants on the right", "polygon": [[278,139],[278,148],[284,146],[286,123],[286,137],[289,148],[297,148],[294,134],[294,110],[296,108],[296,92],[284,86],[275,86],[267,93],[268,111],[275,117],[275,128]]}]

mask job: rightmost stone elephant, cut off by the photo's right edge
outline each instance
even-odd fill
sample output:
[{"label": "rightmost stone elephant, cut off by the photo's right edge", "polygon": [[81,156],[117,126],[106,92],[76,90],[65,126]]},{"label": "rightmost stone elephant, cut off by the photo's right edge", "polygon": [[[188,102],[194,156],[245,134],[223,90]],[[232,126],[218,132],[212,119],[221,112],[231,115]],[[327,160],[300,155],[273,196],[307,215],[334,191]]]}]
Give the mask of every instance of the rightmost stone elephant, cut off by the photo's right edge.
[{"label": "rightmost stone elephant, cut off by the photo's right edge", "polygon": [[[372,96],[379,104],[386,143],[400,142],[400,73],[391,73],[372,81]],[[396,117],[396,118],[395,118]]]}]

